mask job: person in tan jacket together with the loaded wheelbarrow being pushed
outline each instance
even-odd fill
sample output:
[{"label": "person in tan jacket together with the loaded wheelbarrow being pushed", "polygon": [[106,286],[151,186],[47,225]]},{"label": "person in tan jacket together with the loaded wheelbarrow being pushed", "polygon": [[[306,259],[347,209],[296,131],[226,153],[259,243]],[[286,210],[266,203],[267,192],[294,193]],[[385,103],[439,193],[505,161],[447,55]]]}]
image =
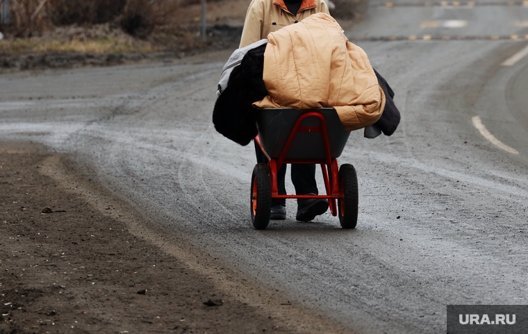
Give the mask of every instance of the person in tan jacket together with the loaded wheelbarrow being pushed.
[{"label": "person in tan jacket together with the loaded wheelbarrow being pushed", "polygon": [[[349,164],[338,168],[336,158],[349,131],[365,128],[365,137],[395,131],[394,93],[365,51],[348,41],[323,1],[285,1],[251,2],[240,48],[222,70],[213,123],[238,144],[254,139],[255,228],[286,219],[288,198],[297,199],[298,221],[311,221],[330,208],[343,228],[354,228],[356,172]],[[395,112],[383,119],[386,103]],[[284,187],[288,163],[295,195]],[[325,195],[317,190],[315,164],[322,167]]]}]

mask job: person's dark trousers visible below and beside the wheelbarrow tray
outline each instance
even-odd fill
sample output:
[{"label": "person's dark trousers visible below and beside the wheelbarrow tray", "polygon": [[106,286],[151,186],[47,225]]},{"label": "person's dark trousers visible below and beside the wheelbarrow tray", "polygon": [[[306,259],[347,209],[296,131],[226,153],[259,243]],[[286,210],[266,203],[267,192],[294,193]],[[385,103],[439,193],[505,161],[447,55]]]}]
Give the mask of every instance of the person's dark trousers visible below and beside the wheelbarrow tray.
[{"label": "person's dark trousers visible below and beside the wheelbarrow tray", "polygon": [[[267,163],[266,156],[261,150],[261,147],[259,147],[256,142],[255,153],[257,162]],[[315,181],[315,165],[292,164],[291,169],[292,183],[295,187],[296,194],[319,194],[317,191],[317,182]],[[283,164],[277,172],[277,186],[279,187],[279,194],[286,194],[284,178],[286,178],[286,164]],[[286,199],[272,199],[272,206],[278,205],[286,205]]]}]

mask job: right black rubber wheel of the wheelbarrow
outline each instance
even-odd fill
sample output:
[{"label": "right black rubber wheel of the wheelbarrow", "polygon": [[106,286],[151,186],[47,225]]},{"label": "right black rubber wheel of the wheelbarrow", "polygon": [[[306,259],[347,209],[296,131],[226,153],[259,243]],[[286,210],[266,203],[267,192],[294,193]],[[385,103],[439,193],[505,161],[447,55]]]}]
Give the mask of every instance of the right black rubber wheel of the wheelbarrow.
[{"label": "right black rubber wheel of the wheelbarrow", "polygon": [[338,199],[339,222],[343,228],[355,228],[358,224],[358,177],[350,164],[339,168],[339,184],[343,199]]}]

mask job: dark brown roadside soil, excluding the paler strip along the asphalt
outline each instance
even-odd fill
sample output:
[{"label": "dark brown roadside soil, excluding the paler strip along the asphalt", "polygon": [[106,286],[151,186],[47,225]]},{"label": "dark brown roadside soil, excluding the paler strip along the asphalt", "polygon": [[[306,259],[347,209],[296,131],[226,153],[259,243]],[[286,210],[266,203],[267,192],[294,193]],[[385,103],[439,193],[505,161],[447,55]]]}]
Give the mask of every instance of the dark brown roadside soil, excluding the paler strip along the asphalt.
[{"label": "dark brown roadside soil, excluding the paler strip along the asphalt", "polygon": [[0,144],[0,333],[299,333],[65,192],[48,156]]}]

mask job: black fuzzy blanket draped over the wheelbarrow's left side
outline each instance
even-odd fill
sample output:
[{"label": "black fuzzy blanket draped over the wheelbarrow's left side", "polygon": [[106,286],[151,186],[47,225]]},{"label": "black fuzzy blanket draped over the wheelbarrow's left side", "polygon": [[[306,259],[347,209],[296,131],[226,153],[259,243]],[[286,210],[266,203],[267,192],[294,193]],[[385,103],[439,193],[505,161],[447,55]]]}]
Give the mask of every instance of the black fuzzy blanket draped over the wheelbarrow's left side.
[{"label": "black fuzzy blanket draped over the wheelbarrow's left side", "polygon": [[253,103],[267,96],[262,80],[266,44],[251,49],[233,68],[227,87],[216,100],[213,124],[216,131],[245,146],[258,134]]}]

